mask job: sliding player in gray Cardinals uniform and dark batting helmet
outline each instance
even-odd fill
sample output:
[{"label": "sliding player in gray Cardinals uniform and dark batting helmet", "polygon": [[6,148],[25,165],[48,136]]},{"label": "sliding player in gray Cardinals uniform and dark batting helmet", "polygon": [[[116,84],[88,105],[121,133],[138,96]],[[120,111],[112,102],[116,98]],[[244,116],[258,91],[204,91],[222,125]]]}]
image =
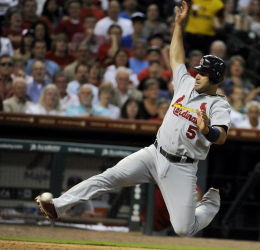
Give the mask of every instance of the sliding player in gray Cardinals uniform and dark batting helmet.
[{"label": "sliding player in gray Cardinals uniform and dark batting helmet", "polygon": [[213,187],[196,205],[197,162],[205,159],[212,143],[223,144],[230,126],[230,106],[216,95],[223,80],[225,63],[213,55],[201,58],[196,77],[187,73],[182,42],[182,24],[188,7],[176,7],[175,29],[170,44],[174,96],[157,132],[154,144],[120,160],[103,173],[70,188],[58,198],[35,198],[49,219],[70,207],[97,197],[118,186],[156,183],[163,195],[175,232],[190,236],[209,224],[220,205]]}]

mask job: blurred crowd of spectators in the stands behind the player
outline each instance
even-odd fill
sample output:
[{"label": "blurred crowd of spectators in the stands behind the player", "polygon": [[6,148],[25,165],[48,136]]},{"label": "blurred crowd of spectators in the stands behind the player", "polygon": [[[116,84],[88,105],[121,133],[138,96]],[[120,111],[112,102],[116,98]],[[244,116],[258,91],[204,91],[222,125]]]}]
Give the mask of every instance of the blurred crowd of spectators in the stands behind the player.
[{"label": "blurred crowd of spectators in the stands behind the player", "polygon": [[[232,126],[260,129],[260,0],[188,0],[186,67],[227,64]],[[163,119],[179,0],[1,0],[0,110]]]}]

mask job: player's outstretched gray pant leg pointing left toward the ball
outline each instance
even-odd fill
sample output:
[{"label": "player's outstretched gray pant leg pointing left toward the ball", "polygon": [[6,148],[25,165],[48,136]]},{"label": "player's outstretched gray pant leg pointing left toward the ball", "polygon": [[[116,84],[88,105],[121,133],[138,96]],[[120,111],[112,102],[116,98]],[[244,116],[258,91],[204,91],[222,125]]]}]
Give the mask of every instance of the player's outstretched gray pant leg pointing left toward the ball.
[{"label": "player's outstretched gray pant leg pointing left toward the ball", "polygon": [[[150,147],[145,147],[120,160],[115,166],[71,187],[58,198],[52,199],[59,217],[70,207],[95,198],[113,188],[154,182],[149,168],[154,165]],[[150,166],[150,167],[149,167]]]}]

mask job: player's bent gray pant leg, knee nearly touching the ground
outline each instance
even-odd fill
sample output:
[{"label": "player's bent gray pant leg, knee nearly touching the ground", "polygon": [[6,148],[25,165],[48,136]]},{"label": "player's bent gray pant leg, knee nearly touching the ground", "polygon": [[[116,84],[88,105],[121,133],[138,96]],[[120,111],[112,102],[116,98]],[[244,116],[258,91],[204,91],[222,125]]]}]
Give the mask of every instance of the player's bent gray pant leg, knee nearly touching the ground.
[{"label": "player's bent gray pant leg, knee nearly touching the ground", "polygon": [[220,205],[219,193],[209,191],[196,207],[196,164],[170,163],[159,188],[175,232],[191,236],[207,226]]}]

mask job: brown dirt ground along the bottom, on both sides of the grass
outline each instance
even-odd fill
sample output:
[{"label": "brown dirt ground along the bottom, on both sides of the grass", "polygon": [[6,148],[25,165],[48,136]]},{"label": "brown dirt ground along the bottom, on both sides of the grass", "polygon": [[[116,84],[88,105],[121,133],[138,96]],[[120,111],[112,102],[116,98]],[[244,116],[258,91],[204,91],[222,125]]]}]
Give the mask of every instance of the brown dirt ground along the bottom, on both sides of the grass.
[{"label": "brown dirt ground along the bottom, on both sides of the grass", "polygon": [[[207,247],[233,247],[245,249],[260,249],[260,242],[245,240],[223,240],[213,238],[197,237],[159,237],[146,236],[141,232],[112,232],[112,231],[91,231],[76,228],[51,227],[51,226],[28,226],[28,225],[6,225],[0,224],[1,236],[27,236],[27,237],[51,237],[63,239],[163,244],[163,245],[193,245]],[[19,244],[19,245],[17,245]],[[35,245],[37,247],[35,247]],[[25,248],[22,248],[22,247]],[[31,247],[31,248],[30,248]],[[0,249],[123,249],[128,247],[94,246],[94,245],[73,245],[53,244],[35,242],[15,242],[0,240]],[[140,248],[128,248],[137,250]],[[143,249],[143,248],[142,248]]]}]

